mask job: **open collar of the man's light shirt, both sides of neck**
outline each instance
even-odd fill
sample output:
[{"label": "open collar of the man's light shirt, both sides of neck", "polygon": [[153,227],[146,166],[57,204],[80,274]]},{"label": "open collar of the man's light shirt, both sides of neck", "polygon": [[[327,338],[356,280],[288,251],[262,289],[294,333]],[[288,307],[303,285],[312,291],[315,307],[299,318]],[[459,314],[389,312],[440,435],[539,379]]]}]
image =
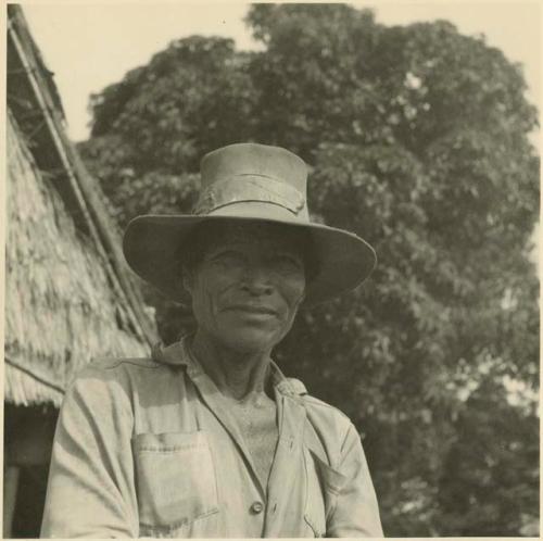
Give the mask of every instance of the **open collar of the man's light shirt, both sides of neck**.
[{"label": "open collar of the man's light shirt, both sides of neck", "polygon": [[[178,342],[165,347],[157,343],[152,348],[151,357],[155,363],[168,364],[172,366],[184,366],[189,377],[193,378],[204,370],[198,360],[195,360],[187,348],[190,336],[181,338]],[[273,386],[281,394],[286,395],[300,395],[307,394],[305,386],[299,379],[287,378],[279,366],[272,361],[272,381]]]}]

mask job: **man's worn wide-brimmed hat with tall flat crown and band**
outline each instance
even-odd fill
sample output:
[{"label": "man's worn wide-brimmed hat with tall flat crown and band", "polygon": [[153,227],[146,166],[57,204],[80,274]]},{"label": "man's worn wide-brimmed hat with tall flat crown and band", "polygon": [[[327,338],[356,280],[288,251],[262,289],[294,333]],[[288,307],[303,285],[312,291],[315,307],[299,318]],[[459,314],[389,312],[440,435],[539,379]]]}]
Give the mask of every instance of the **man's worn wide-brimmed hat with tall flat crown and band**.
[{"label": "man's worn wide-brimmed hat with tall flat crown and band", "polygon": [[206,154],[201,162],[200,198],[192,214],[143,215],[125,231],[130,267],[167,298],[189,303],[179,279],[182,244],[204,222],[269,222],[311,234],[317,269],[306,285],[305,303],[315,304],[364,281],[376,264],[374,249],[353,232],[311,221],[307,166],[279,147],[238,143]]}]

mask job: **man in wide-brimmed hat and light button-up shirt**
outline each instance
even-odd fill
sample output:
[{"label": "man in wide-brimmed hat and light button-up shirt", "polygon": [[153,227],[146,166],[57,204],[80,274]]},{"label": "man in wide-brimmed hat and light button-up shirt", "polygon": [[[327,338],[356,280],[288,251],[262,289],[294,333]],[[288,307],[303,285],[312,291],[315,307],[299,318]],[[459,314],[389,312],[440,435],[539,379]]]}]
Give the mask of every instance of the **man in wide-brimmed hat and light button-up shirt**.
[{"label": "man in wide-brimmed hat and light button-up shirt", "polygon": [[204,156],[193,214],[129,224],[128,263],[198,328],[77,378],[45,537],[382,536],[354,426],[272,361],[302,303],[375,265],[361,238],[311,223],[306,175],[285,149],[232,144]]}]

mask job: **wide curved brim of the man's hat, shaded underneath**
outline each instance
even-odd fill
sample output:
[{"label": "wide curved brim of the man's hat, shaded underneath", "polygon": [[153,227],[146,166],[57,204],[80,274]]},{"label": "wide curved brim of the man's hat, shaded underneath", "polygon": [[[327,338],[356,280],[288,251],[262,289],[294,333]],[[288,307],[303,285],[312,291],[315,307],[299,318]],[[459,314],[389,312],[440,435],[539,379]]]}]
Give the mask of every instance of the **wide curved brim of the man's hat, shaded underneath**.
[{"label": "wide curved brim of the man's hat, shaded underneath", "polygon": [[318,270],[306,286],[306,305],[327,301],[359,286],[377,263],[375,250],[361,237],[316,223],[239,215],[142,215],[134,218],[123,238],[130,267],[168,299],[190,304],[179,279],[179,248],[204,222],[268,222],[307,230],[313,239]]}]

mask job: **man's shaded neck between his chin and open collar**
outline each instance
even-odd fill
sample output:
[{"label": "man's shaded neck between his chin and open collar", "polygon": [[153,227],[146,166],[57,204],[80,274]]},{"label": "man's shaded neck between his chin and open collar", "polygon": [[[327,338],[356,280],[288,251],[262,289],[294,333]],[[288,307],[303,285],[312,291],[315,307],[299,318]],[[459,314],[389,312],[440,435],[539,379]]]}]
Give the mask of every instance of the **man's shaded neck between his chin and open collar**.
[{"label": "man's shaded neck between his chin and open collar", "polygon": [[197,331],[190,345],[192,354],[217,388],[238,401],[252,400],[266,392],[270,351],[240,352],[216,343]]}]

